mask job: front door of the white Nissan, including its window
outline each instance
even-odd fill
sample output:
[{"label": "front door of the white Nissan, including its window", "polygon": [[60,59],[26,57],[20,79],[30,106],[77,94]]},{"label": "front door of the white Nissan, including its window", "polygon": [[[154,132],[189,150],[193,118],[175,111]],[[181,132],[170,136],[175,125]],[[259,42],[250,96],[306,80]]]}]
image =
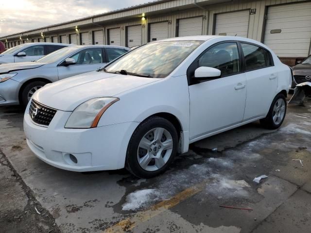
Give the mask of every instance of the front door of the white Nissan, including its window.
[{"label": "front door of the white Nissan, including its window", "polygon": [[195,68],[220,69],[221,77],[190,83],[190,140],[193,141],[241,123],[246,99],[246,76],[241,72],[236,42],[216,44],[194,63]]}]

